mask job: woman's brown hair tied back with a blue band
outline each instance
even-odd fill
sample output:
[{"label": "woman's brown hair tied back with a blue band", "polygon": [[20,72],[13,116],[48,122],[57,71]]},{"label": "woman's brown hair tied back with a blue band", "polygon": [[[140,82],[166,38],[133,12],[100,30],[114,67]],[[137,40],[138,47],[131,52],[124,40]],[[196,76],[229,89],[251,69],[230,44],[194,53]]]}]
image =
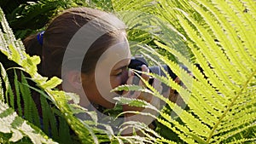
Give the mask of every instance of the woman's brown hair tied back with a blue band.
[{"label": "woman's brown hair tied back with a blue band", "polygon": [[[96,22],[92,23],[95,27],[94,30],[104,34],[93,43],[88,43],[90,48],[86,55],[84,55],[81,68],[81,71],[84,73],[93,72],[96,61],[102,53],[114,41],[124,38],[120,37],[120,34],[125,34],[125,24],[113,14],[108,14],[107,19],[102,18],[102,15],[106,14],[108,13],[89,8],[67,9],[49,23],[48,28],[44,32],[42,45],[38,42],[38,34],[26,37],[24,40],[26,52],[29,55],[41,56],[42,66],[38,66],[38,71],[47,77],[57,76],[61,78],[62,59],[67,50],[68,43],[82,26],[96,19]],[[109,29],[113,31],[109,31]],[[83,37],[91,36],[84,33]],[[76,55],[76,53],[79,55],[79,51],[73,50],[72,53],[73,55]],[[72,69],[73,67],[69,65],[67,68]]]}]

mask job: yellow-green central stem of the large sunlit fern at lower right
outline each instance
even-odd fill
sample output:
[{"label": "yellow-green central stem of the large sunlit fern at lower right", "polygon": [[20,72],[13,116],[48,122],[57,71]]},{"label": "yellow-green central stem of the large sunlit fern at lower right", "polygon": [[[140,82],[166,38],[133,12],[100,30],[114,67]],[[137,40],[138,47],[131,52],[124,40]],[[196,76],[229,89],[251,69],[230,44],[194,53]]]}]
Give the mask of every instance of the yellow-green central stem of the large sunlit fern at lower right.
[{"label": "yellow-green central stem of the large sunlit fern at lower right", "polygon": [[246,83],[242,85],[241,90],[239,91],[239,93],[235,96],[235,98],[233,99],[233,101],[231,101],[229,107],[227,107],[227,109],[225,110],[225,112],[223,113],[223,115],[219,118],[218,122],[213,126],[210,135],[207,138],[207,143],[209,143],[210,139],[213,136],[214,131],[217,129],[218,125],[220,124],[220,122],[222,121],[222,119],[226,116],[227,112],[230,111],[231,107],[233,107],[233,105],[236,102],[236,99],[241,95],[242,91],[244,89],[247,88],[247,84],[249,84],[249,82],[251,81],[251,79],[253,79],[253,76],[256,74],[256,70],[254,70],[253,74],[247,79]]}]

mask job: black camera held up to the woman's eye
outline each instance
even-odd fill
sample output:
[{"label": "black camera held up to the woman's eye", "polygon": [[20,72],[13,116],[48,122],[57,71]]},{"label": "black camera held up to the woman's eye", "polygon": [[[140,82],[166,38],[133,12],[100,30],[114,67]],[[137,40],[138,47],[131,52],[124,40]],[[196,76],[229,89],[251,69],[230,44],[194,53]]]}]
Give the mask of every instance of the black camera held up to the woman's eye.
[{"label": "black camera held up to the woman's eye", "polygon": [[[131,58],[131,63],[129,64],[128,68],[135,69],[137,71],[142,71],[142,66],[148,66],[147,60],[144,59],[143,55],[138,55]],[[169,66],[162,65],[164,70],[169,74],[169,76],[174,80],[177,76],[172,72]],[[149,72],[158,74],[160,76],[166,76],[165,72],[163,72],[160,66],[148,66]],[[139,72],[137,72],[140,74]],[[153,79],[149,79],[149,84],[153,83]]]}]

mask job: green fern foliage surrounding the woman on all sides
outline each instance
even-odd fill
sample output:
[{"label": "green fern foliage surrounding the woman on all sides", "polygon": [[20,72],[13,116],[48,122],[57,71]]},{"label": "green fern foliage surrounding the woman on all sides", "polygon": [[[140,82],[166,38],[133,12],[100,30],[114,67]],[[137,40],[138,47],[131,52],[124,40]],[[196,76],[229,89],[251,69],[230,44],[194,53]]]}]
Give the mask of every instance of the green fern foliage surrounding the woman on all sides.
[{"label": "green fern foliage surrounding the woman on all sides", "polygon": [[[52,2],[55,3],[48,4]],[[80,3],[80,5],[86,4]],[[154,131],[139,122],[128,123],[128,127],[141,130],[145,137],[113,135],[111,130],[98,130],[97,121],[86,123],[74,116],[76,112],[87,111],[76,105],[77,103],[74,105],[67,103],[68,100],[79,101],[76,95],[54,89],[61,83],[60,79],[48,79],[38,74],[37,65],[40,62],[38,56],[26,55],[22,43],[15,39],[1,11],[3,31],[0,33],[1,52],[7,55],[9,60],[14,60],[20,66],[19,69],[26,72],[40,89],[38,90],[42,94],[40,102],[45,106],[43,111],[49,112],[49,115],[43,114],[45,134],[50,135],[48,128],[56,129],[53,130],[54,134],[58,133],[57,128],[52,127],[56,123],[56,119],[52,116],[57,115],[61,118],[60,124],[66,125],[65,130],[69,130],[70,127],[82,143],[102,141],[253,143],[256,141],[256,3],[253,0],[105,0],[90,1],[89,5],[108,11],[113,10],[127,24],[130,41],[139,41],[134,44],[135,48],[151,60],[152,64],[158,65],[161,60],[172,68],[172,72],[182,80],[183,86],[175,83],[172,78],[160,77],[154,73],[151,75],[175,89],[182,97],[183,103],[177,105],[169,101],[148,83],[146,84],[150,90],[134,85],[124,85],[118,89],[141,90],[166,101],[166,107],[160,111],[145,101],[117,98],[122,103],[148,107],[159,112],[160,117],[141,113],[154,117],[158,122],[158,128]],[[7,17],[10,24],[13,21],[11,26],[16,20],[24,20],[24,24],[28,25],[32,21],[31,18],[39,20],[38,15],[42,16],[42,14],[45,16],[42,20],[49,20],[50,15],[58,11],[59,6],[62,6],[61,9],[79,6],[79,1],[42,0],[25,3],[25,5],[19,5],[19,8],[12,13],[13,15],[9,13]],[[24,8],[26,10],[21,10]],[[53,11],[44,14],[45,9]],[[35,11],[38,13],[33,15],[32,12]],[[18,15],[20,19],[17,19],[16,14],[20,14]],[[42,26],[32,29],[40,29]],[[16,32],[18,33],[16,36],[19,37],[26,35]],[[137,53],[137,50],[134,53]],[[189,72],[193,73],[193,77],[180,64],[186,66]],[[41,142],[52,141],[38,129],[40,127],[36,122],[38,120],[33,122],[39,118],[37,114],[32,114],[36,108],[28,97],[31,95],[29,89],[35,88],[25,81],[25,76],[20,77],[21,82],[15,78],[15,84],[10,86],[4,73],[3,71],[0,90],[0,105],[1,108],[3,107],[0,110],[0,123],[4,118],[8,118],[10,123],[1,124],[8,127],[9,131],[4,131],[6,129],[0,126],[0,142],[21,141],[21,139],[34,142],[36,141],[33,138],[34,135],[41,136]],[[17,103],[14,101],[15,96]],[[30,106],[25,107],[24,115],[28,113],[27,120],[17,116],[13,110],[13,108],[20,110],[20,100],[25,102],[25,106]],[[26,104],[26,102],[30,103]],[[22,114],[21,111],[17,112]],[[26,127],[19,127],[20,124],[26,124]],[[23,132],[26,128],[33,132],[29,134]],[[72,135],[65,136],[71,138]],[[54,135],[52,137],[55,138]],[[58,138],[54,140],[61,142]]]}]

